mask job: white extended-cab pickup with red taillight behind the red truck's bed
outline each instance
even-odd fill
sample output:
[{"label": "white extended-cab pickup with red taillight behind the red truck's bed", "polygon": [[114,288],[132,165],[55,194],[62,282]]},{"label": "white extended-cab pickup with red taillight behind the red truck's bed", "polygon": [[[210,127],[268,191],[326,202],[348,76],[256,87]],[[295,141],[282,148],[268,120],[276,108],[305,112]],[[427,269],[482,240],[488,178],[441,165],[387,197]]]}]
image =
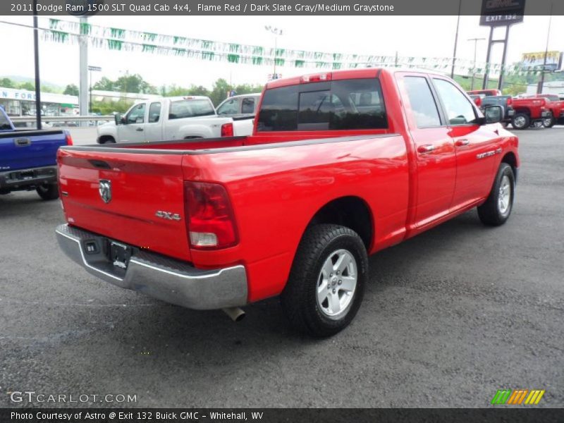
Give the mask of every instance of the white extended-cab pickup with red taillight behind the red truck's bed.
[{"label": "white extended-cab pickup with red taillight behind the red truck's bed", "polygon": [[98,127],[97,142],[152,142],[251,135],[254,116],[220,117],[208,97],[166,97],[140,102]]}]

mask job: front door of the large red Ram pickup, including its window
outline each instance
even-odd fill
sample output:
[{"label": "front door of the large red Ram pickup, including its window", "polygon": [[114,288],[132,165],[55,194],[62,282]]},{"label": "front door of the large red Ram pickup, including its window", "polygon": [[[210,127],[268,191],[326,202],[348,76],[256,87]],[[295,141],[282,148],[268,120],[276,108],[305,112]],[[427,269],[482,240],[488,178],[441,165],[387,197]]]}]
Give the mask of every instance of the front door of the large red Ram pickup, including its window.
[{"label": "front door of the large red Ram pickup, including its window", "polygon": [[456,149],[456,187],[450,207],[464,207],[491,189],[496,155],[501,153],[499,124],[478,125],[474,104],[445,78],[432,78],[448,119],[448,133]]}]

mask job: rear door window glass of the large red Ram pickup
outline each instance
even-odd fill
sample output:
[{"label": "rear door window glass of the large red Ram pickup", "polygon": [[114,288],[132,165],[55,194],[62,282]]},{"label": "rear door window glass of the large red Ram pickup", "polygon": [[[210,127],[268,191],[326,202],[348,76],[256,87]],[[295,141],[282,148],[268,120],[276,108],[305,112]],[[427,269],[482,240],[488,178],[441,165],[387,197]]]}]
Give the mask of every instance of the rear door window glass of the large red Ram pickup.
[{"label": "rear door window glass of the large red Ram pickup", "polygon": [[427,78],[422,76],[406,76],[403,78],[407,97],[410,99],[411,111],[415,116],[417,128],[441,126],[439,109],[431,94]]}]

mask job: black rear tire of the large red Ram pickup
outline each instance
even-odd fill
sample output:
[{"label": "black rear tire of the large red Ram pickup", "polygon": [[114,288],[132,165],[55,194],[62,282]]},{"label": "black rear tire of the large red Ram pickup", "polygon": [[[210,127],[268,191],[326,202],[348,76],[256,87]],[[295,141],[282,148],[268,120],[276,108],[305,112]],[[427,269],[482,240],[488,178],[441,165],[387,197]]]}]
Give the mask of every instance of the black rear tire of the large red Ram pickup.
[{"label": "black rear tire of the large red Ram pickup", "polygon": [[[338,276],[325,281],[321,274],[324,264],[331,257],[338,257],[339,252],[345,252],[345,255],[348,253],[349,256],[352,256],[354,260],[351,260],[351,262],[356,265],[357,281],[350,299],[345,298],[346,291],[338,287],[341,286],[341,280],[333,281]],[[331,262],[329,262],[329,266],[331,266]],[[343,279],[346,277],[344,276],[345,273],[348,276],[348,271],[346,269],[341,274]],[[319,338],[332,336],[345,329],[354,319],[364,296],[367,278],[368,257],[366,248],[355,231],[345,226],[333,224],[312,226],[307,229],[298,247],[298,252],[296,252],[288,283],[281,295],[282,307],[288,320],[298,331]],[[341,312],[335,316],[329,316],[327,311],[324,311],[323,303],[319,304],[317,290],[320,282],[326,283],[325,286],[329,289],[327,292],[328,299],[330,295],[333,295],[331,298],[334,298],[336,293],[336,298],[342,298],[346,304]],[[347,301],[348,303],[346,303]]]}]

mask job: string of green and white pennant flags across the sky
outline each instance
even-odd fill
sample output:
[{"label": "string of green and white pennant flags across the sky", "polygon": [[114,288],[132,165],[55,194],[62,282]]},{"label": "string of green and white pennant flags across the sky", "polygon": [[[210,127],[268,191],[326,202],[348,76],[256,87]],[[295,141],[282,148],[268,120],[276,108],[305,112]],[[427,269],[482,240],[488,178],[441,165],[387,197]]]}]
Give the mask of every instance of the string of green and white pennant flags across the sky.
[{"label": "string of green and white pennant flags across the sky", "polygon": [[[209,39],[163,35],[154,32],[125,30],[90,23],[49,18],[49,29],[44,28],[42,39],[61,44],[78,44],[87,37],[90,46],[111,51],[132,51],[147,54],[178,56],[188,59],[241,63],[255,66],[290,66],[295,68],[319,68],[338,70],[364,66],[426,68],[447,71],[452,66],[450,57],[377,56],[366,54],[326,53],[295,49],[269,48],[248,44],[217,42]],[[483,73],[486,63],[465,59],[456,60],[458,73]],[[501,73],[499,63],[490,63],[489,73]],[[520,63],[505,66],[505,75],[534,74],[521,68]]]}]

